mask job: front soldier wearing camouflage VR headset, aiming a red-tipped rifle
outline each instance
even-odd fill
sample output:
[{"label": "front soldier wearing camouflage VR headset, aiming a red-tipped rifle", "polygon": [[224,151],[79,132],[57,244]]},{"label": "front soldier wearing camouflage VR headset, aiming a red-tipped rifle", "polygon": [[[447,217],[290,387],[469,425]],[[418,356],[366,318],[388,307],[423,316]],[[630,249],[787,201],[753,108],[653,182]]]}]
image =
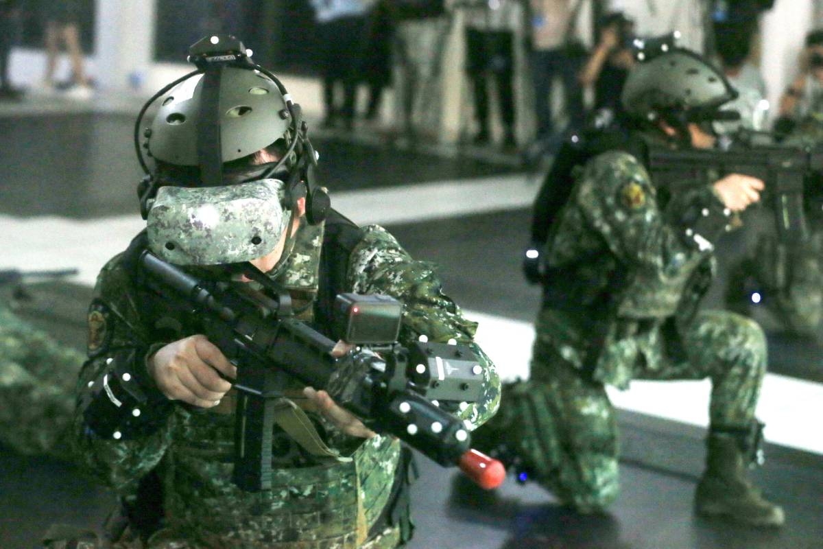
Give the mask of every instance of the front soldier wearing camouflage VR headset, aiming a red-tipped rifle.
[{"label": "front soldier wearing camouflage VR headset, aiming a red-tipped rifle", "polygon": [[[323,391],[295,381],[286,394],[313,426],[323,427],[304,427],[304,434],[319,435],[351,459],[317,464],[286,438],[295,451],[275,453],[272,490],[241,491],[232,483],[236,393],[229,380],[237,368],[200,335],[197,318],[149,297],[129,258],[147,247],[188,266],[250,260],[289,291],[301,319],[323,332],[337,293],[392,295],[405,306],[401,342],[454,338],[481,357],[482,398],[459,412],[472,429],[499,402],[494,367],[472,342],[477,324],[442,293],[433,266],[409,257],[386,230],[358,227],[333,210],[323,221],[328,196],[311,177],[316,156],[299,105],[270,72],[245,58],[233,37],[203,39],[197,48],[207,49],[201,62],[223,65],[198,64],[203,76],[189,75],[152,98],[161,106],[145,134],[154,159],[141,187],[147,230],[105,265],[95,286],[93,337],[73,430],[81,460],[123,494],[137,530],[131,535],[152,549],[397,547],[412,535],[408,450],[393,437],[375,435]],[[195,196],[208,204],[202,216],[190,210],[193,217],[185,214],[175,226],[164,215],[183,211]],[[256,207],[268,216],[249,213]],[[239,221],[226,228],[231,219]],[[202,236],[204,224],[225,230]],[[250,226],[261,227],[256,244],[235,236]],[[170,235],[174,247],[165,246]],[[116,407],[109,389],[123,394],[126,388],[133,391],[129,402]],[[140,413],[124,417],[113,435],[95,433],[132,408]],[[146,504],[134,494],[145,493],[152,477],[162,486],[163,516],[140,531],[132,518]],[[128,535],[118,543],[141,547]]]}]

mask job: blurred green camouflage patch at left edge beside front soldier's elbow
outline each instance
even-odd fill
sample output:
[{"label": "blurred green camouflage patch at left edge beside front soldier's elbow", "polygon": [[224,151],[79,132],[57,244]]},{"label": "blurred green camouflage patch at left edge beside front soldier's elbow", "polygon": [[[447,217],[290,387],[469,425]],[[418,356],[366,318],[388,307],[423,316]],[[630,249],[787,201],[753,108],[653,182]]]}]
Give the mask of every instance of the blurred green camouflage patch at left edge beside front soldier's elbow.
[{"label": "blurred green camouflage patch at left edge beside front soldier's elbow", "polygon": [[81,354],[0,305],[0,441],[23,454],[67,454]]}]

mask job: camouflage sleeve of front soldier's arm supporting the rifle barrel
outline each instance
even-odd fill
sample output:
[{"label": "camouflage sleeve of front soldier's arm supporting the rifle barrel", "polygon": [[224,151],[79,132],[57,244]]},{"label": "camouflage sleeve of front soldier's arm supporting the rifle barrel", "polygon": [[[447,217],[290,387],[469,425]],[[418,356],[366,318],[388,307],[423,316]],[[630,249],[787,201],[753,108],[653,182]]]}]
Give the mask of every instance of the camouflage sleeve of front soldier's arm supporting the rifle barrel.
[{"label": "camouflage sleeve of front soldier's arm supporting the rifle barrel", "polygon": [[400,342],[414,342],[421,335],[430,342],[454,338],[466,343],[480,357],[485,392],[479,402],[459,415],[474,429],[497,412],[500,404],[500,378],[495,365],[472,341],[477,323],[463,317],[458,305],[442,291],[432,263],[415,261],[384,228],[367,226],[365,238],[351,253],[348,279],[352,291],[360,294],[391,295],[402,301]]}]

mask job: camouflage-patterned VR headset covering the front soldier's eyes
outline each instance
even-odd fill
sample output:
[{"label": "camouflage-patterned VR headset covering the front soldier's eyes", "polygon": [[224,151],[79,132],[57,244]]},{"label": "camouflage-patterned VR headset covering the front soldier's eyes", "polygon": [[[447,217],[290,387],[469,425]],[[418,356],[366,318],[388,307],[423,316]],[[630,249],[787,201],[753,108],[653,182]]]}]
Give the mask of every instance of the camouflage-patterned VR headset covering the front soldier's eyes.
[{"label": "camouflage-patterned VR headset covering the front soldier's eyes", "polygon": [[222,187],[161,187],[148,212],[149,248],[175,265],[250,261],[277,247],[291,219],[278,179]]}]

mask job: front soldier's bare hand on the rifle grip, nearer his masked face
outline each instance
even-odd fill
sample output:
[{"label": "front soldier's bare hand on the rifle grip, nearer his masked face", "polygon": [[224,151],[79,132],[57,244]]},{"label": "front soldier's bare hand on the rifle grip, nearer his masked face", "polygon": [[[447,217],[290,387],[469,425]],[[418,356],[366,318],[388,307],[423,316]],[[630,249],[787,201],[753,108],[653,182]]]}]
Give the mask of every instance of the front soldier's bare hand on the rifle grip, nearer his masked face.
[{"label": "front soldier's bare hand on the rifle grip, nearer his masked face", "polygon": [[237,368],[206,336],[196,335],[160,347],[148,361],[148,370],[160,393],[170,400],[211,408],[220,403],[237,377]]}]

